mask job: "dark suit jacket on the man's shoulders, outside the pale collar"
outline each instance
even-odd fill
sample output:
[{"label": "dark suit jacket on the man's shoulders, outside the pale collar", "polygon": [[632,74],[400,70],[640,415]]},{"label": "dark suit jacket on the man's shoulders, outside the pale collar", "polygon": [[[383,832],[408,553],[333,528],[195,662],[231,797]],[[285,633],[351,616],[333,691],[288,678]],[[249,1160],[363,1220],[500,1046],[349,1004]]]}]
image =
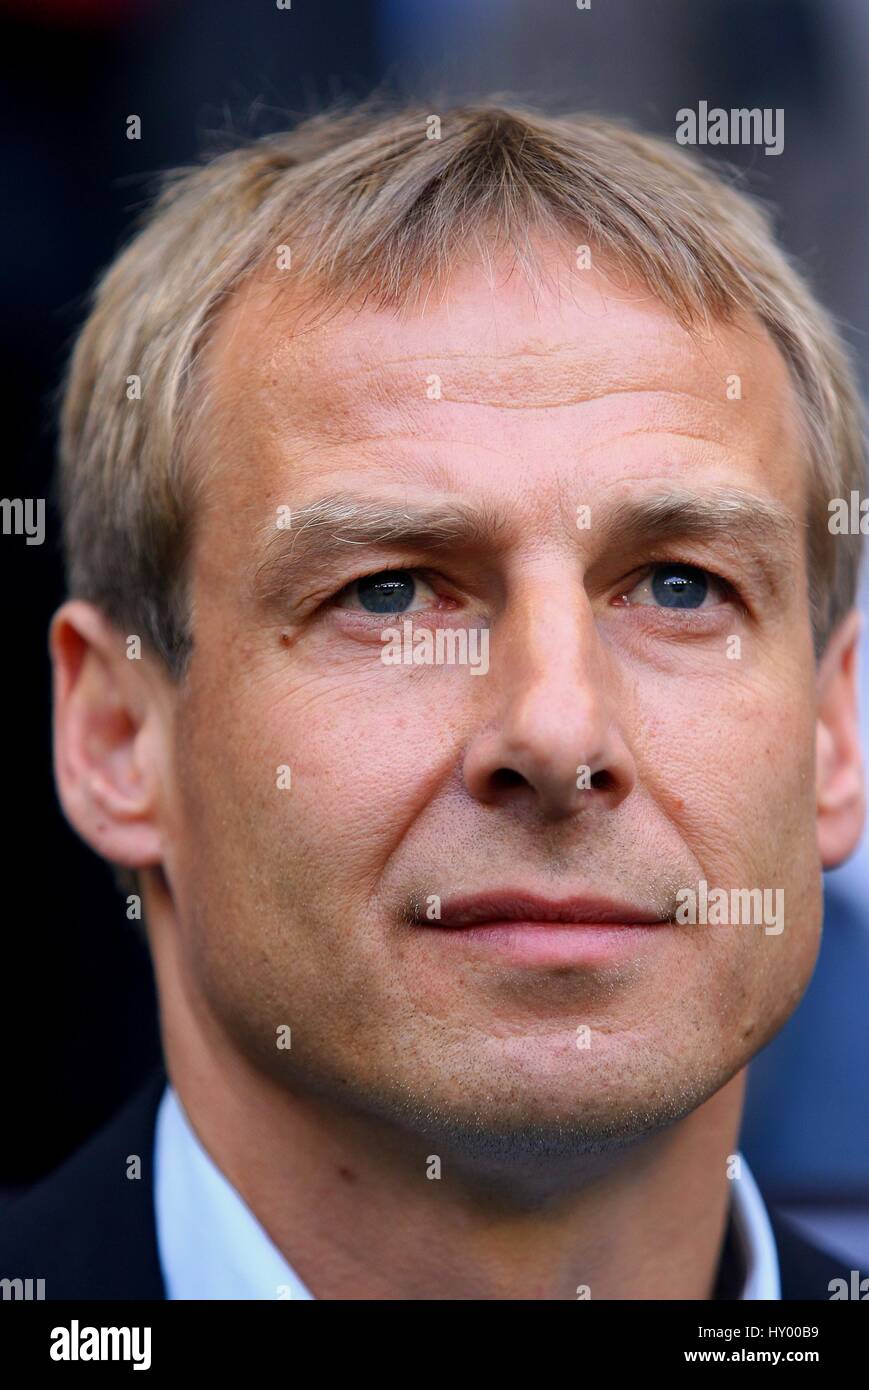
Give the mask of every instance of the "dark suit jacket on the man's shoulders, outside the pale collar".
[{"label": "dark suit jacket on the man's shoulders, outside the pale collar", "polygon": [[[0,1208],[0,1279],[44,1279],[46,1298],[165,1298],[153,1200],[154,1123],[165,1081],[159,1068],[57,1172]],[[131,1154],[142,1159],[140,1180],[127,1177]],[[769,1215],[783,1298],[827,1300],[831,1279],[850,1280],[856,1261],[815,1247],[773,1209]],[[731,1259],[729,1238],[719,1298],[738,1297]]]}]

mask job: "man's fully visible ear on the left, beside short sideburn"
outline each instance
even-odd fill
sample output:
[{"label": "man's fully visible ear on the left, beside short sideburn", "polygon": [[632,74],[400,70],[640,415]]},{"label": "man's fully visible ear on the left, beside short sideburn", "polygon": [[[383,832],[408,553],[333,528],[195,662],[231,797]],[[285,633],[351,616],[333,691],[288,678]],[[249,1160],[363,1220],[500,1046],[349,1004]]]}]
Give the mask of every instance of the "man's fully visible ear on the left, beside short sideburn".
[{"label": "man's fully visible ear on the left, beside short sideburn", "polygon": [[163,720],[150,659],[92,603],[71,599],[49,628],[54,780],[92,849],[128,869],[161,862]]}]

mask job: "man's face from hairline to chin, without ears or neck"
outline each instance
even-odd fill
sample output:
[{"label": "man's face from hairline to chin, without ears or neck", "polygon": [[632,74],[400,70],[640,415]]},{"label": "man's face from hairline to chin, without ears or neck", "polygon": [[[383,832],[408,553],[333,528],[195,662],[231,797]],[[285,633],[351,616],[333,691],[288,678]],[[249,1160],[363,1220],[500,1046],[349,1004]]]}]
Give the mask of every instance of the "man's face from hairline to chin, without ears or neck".
[{"label": "man's face from hairline to chin, without ears or neck", "polygon": [[[676,1119],[818,949],[784,364],[592,271],[535,299],[466,267],[424,311],[298,329],[252,289],[209,349],[165,849],[188,987],[288,1088],[425,1133],[581,1148]],[[366,541],[316,510],[336,496],[441,530]],[[406,620],[478,653],[484,630],[488,670],[387,664]],[[783,930],[612,924],[672,919],[701,880],[772,890]],[[606,924],[444,924],[487,894]]]}]

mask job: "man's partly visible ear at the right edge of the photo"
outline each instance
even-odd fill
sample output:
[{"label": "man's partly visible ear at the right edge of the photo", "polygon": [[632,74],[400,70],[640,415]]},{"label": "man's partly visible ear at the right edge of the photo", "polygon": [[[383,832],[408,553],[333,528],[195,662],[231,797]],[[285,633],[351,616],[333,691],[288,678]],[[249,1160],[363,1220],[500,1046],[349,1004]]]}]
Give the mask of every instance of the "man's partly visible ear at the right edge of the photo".
[{"label": "man's partly visible ear at the right edge of the photo", "polygon": [[862,619],[854,609],[836,628],[818,669],[818,847],[825,869],[854,853],[866,813],[856,702]]}]

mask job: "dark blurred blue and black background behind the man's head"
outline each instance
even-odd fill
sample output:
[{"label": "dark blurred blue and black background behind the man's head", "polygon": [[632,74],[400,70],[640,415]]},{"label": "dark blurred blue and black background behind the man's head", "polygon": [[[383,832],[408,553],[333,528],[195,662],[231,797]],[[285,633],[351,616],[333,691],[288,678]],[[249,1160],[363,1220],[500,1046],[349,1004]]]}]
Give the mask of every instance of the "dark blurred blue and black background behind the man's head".
[{"label": "dark blurred blue and black background behind the man's head", "polygon": [[[278,0],[279,3],[279,0]],[[709,147],[777,208],[780,236],[869,374],[868,0],[0,0],[3,492],[50,498],[54,395],[97,271],[150,179],[216,136],[263,133],[374,86],[509,93],[673,136],[676,111],[781,107],[784,152]],[[128,115],[142,138],[127,139]],[[150,966],[51,776],[46,632],[57,524],[4,537],[10,815],[0,1191],[54,1168],[159,1058]],[[863,607],[866,607],[863,595]],[[869,746],[869,691],[863,735]],[[10,746],[13,745],[13,746]],[[827,876],[819,966],[752,1063],[742,1150],[768,1200],[869,1262],[866,842]]]}]

